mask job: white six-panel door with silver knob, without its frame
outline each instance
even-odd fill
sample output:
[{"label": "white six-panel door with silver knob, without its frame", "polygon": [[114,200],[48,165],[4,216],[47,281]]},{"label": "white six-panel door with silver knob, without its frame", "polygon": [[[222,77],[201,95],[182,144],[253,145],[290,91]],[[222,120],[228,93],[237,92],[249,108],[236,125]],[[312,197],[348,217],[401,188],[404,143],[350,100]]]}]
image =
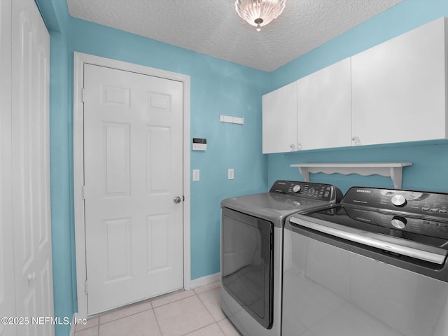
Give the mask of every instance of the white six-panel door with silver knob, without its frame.
[{"label": "white six-panel door with silver knob, without its frame", "polygon": [[183,288],[182,130],[183,83],[85,64],[88,315]]}]

